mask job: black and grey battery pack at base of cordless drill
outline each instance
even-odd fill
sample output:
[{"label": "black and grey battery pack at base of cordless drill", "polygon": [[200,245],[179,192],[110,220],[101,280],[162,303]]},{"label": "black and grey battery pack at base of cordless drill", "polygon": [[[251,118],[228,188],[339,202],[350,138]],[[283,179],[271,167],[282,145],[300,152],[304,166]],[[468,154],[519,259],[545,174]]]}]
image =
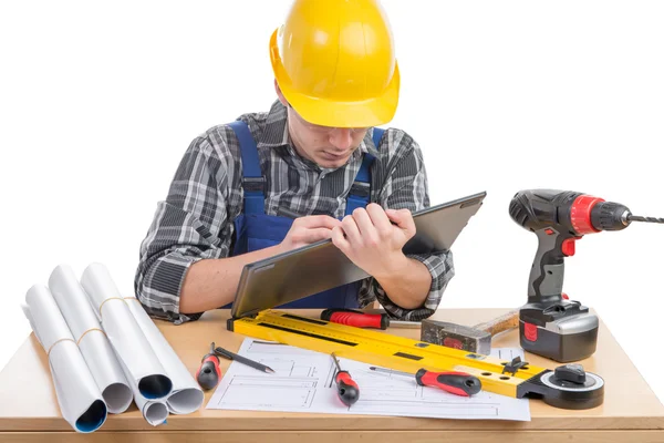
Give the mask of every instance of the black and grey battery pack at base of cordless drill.
[{"label": "black and grey battery pack at base of cordless drill", "polygon": [[583,360],[595,352],[599,319],[578,301],[526,305],[519,312],[519,338],[527,352],[559,362]]}]

